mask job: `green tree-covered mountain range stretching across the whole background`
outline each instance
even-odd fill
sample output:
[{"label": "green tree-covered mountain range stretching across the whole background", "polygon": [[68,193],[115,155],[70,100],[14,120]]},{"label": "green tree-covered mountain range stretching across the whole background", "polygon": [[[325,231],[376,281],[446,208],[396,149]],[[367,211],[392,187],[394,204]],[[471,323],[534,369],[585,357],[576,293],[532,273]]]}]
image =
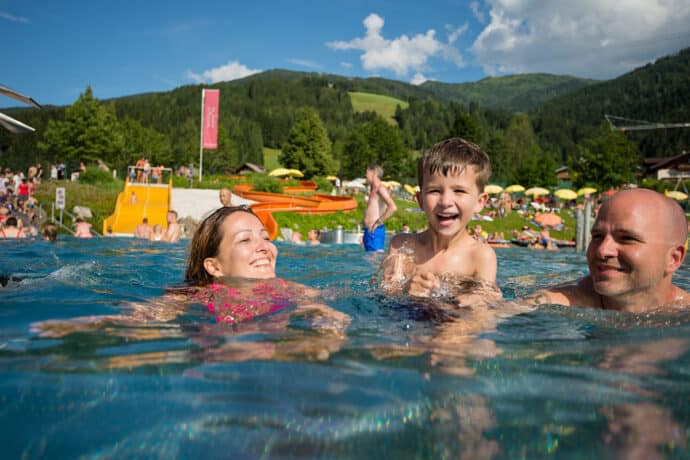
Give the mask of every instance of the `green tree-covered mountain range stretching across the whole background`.
[{"label": "green tree-covered mountain range stretching across the whole background", "polygon": [[[306,161],[310,132],[323,128],[330,145],[319,141],[327,150],[319,152],[325,155],[319,164],[345,177],[379,161],[391,177],[411,178],[421,150],[443,138],[463,136],[489,152],[497,181],[548,185],[555,167],[570,165],[574,158],[596,158],[597,149],[607,145],[617,144],[633,156],[638,148],[643,156],[675,155],[690,148],[687,129],[605,139],[608,129],[602,125],[606,113],[653,122],[690,121],[688,75],[690,49],[604,82],[531,74],[414,86],[382,78],[272,70],[210,86],[221,94],[219,149],[206,156],[204,169],[221,172],[247,161],[261,163],[263,147],[283,149],[286,143],[290,157],[285,161]],[[142,154],[171,166],[195,162],[202,87],[105,101],[86,88],[69,107],[6,110],[37,132],[0,132],[0,165],[24,168],[37,160],[101,158],[123,168]],[[397,126],[391,126],[373,112],[356,113],[350,92],[391,96],[409,106],[398,108]],[[539,105],[525,111],[534,104]],[[79,126],[87,119],[89,124]],[[88,133],[77,135],[79,130]],[[624,145],[629,141],[634,149]],[[313,163],[303,164],[316,170]],[[587,168],[580,168],[578,180],[584,181]]]}]

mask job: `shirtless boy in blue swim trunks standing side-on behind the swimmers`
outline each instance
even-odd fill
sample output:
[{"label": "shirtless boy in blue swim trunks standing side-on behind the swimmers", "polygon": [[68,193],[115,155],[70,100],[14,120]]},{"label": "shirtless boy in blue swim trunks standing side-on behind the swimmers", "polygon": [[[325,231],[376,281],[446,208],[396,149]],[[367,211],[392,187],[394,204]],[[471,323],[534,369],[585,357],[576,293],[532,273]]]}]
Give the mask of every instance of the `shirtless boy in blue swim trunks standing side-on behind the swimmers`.
[{"label": "shirtless boy in blue swim trunks standing side-on behind the swimmers", "polygon": [[367,167],[367,182],[371,186],[369,199],[364,208],[364,237],[362,243],[365,251],[382,252],[386,238],[384,222],[392,216],[398,207],[395,205],[390,192],[381,183],[383,168],[372,164]]}]

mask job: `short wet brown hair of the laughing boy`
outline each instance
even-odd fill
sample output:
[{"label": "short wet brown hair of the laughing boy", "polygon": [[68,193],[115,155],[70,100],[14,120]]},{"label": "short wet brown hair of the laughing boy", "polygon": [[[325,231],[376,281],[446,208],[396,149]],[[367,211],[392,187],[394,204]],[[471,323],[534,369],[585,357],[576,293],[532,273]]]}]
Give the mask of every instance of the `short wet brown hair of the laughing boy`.
[{"label": "short wet brown hair of the laughing boy", "polygon": [[491,161],[489,156],[477,144],[460,137],[452,137],[433,145],[424,152],[417,163],[417,183],[424,185],[424,174],[440,173],[461,174],[465,168],[472,166],[477,175],[477,189],[484,192],[484,187],[491,176]]}]

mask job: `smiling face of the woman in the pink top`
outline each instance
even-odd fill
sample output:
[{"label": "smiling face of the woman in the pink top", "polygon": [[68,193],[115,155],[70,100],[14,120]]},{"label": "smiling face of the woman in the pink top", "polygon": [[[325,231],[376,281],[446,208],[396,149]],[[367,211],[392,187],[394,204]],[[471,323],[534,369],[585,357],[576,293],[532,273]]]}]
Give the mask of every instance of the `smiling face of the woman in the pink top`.
[{"label": "smiling face of the woman in the pink top", "polygon": [[258,217],[233,212],[223,221],[221,231],[218,255],[204,260],[204,268],[211,276],[275,278],[278,249]]}]

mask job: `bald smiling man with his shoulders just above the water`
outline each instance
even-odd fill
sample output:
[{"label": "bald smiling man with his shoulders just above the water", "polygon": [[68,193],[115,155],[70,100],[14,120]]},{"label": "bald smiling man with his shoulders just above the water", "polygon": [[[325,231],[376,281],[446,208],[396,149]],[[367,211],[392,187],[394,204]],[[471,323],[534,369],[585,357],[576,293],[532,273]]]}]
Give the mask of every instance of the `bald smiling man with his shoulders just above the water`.
[{"label": "bald smiling man with his shoulders just above the water", "polygon": [[589,275],[525,300],[645,312],[690,305],[673,273],[685,259],[688,225],[675,201],[647,189],[616,193],[599,210],[587,247]]}]

